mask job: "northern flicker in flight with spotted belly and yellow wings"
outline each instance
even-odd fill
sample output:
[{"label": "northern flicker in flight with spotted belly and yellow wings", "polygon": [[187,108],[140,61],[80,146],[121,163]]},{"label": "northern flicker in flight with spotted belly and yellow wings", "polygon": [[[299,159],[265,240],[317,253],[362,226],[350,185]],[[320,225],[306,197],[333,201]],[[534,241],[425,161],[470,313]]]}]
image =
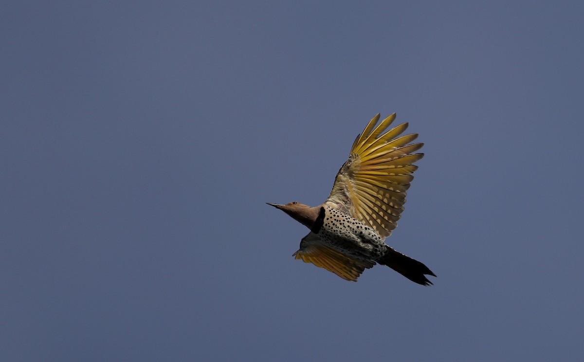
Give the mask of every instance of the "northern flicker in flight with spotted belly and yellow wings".
[{"label": "northern flicker in flight with spotted belly and yellow wings", "polygon": [[426,275],[436,276],[427,266],[385,244],[397,227],[406,190],[418,169],[413,165],[423,154],[413,152],[422,143],[410,143],[418,134],[401,137],[408,123],[384,133],[395,113],[380,124],[377,114],[363,133],[357,135],[349,159],[336,174],[331,194],[318,206],[296,201],[270,204],[290,215],[310,232],[294,256],[339,277],[357,281],[365,269],[376,263],[387,265],[415,283],[432,284]]}]

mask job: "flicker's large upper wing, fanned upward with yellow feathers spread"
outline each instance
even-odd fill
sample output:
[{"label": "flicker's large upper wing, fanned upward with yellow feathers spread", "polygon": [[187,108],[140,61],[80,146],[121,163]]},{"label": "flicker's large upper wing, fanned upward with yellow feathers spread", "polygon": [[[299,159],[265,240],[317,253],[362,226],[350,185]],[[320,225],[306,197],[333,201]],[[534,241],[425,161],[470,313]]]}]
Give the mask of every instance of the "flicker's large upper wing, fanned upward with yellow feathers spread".
[{"label": "flicker's large upper wing, fanned upward with yellow feathers spread", "polygon": [[374,228],[380,236],[390,236],[404,211],[406,190],[413,180],[413,165],[424,154],[413,152],[423,143],[413,143],[418,134],[398,137],[408,123],[384,133],[395,120],[395,113],[381,121],[373,117],[353,142],[349,159],[336,174],[326,201]]}]

